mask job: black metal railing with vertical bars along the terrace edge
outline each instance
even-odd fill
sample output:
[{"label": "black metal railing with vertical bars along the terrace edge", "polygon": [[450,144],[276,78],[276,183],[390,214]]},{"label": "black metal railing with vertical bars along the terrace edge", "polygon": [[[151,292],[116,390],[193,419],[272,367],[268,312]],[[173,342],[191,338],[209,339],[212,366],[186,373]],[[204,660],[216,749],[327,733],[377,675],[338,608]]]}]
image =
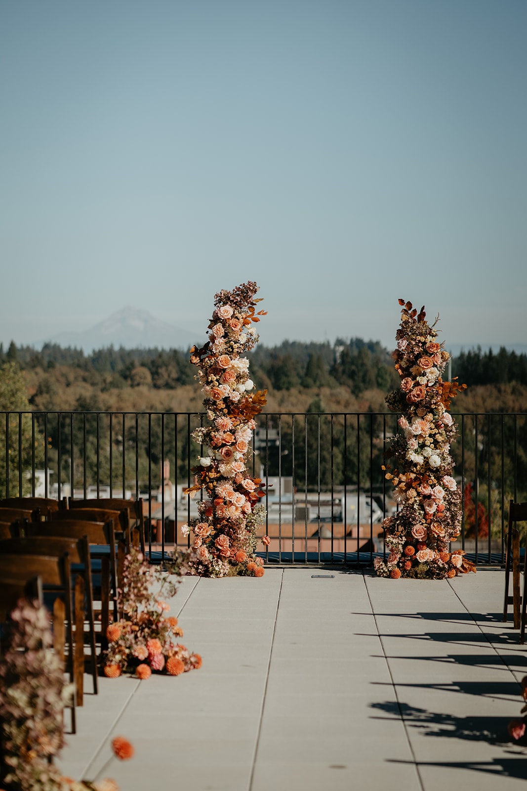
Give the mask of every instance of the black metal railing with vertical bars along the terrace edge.
[{"label": "black metal railing with vertical bars along the terrace edge", "polygon": [[[454,415],[451,448],[463,493],[460,544],[502,563],[510,499],[527,499],[524,413]],[[202,413],[0,412],[0,496],[142,497],[152,558],[186,543],[195,513],[183,489],[204,448]],[[268,562],[369,564],[384,552],[395,508],[382,465],[397,431],[391,413],[268,413],[258,417],[251,472],[267,486]]]}]

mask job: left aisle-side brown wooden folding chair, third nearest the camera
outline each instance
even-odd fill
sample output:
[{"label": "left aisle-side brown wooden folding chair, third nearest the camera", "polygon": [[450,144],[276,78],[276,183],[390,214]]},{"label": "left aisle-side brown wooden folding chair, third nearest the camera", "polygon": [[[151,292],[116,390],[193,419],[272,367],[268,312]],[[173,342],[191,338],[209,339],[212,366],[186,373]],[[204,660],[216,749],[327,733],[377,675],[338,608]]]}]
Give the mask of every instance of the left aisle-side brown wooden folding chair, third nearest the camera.
[{"label": "left aisle-side brown wooden folding chair, third nearest the camera", "polygon": [[85,669],[85,616],[88,620],[88,645],[90,648],[93,692],[97,694],[98,691],[96,632],[89,544],[86,536],[80,538],[50,536],[47,528],[47,523],[29,523],[26,537],[0,541],[0,552],[8,551],[20,554],[47,554],[58,556],[67,552],[70,555],[70,566],[75,577],[75,684],[77,687],[77,705],[82,706]]}]

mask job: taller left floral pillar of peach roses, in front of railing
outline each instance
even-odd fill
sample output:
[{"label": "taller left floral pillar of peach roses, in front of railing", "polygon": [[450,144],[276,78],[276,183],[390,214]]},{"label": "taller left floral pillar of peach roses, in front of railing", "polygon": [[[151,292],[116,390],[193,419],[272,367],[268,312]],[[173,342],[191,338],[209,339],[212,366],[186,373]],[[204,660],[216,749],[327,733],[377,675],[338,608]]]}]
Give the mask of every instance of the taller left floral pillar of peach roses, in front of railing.
[{"label": "taller left floral pillar of peach roses, in front of railing", "polygon": [[249,361],[243,356],[258,342],[252,324],[265,316],[263,310],[256,312],[261,301],[254,298],[257,291],[249,281],[216,293],[209,340],[190,350],[209,420],[209,426],[192,436],[209,452],[198,457],[196,483],[186,490],[191,496],[203,490],[205,498],[198,503],[198,519],[184,525],[183,532],[193,535],[188,558],[192,572],[206,577],[264,573],[262,558],[255,554],[256,528],[265,517],[260,504],[264,492],[262,480],[247,469],[247,455],[254,417],[262,411],[267,391],[254,392]]}]

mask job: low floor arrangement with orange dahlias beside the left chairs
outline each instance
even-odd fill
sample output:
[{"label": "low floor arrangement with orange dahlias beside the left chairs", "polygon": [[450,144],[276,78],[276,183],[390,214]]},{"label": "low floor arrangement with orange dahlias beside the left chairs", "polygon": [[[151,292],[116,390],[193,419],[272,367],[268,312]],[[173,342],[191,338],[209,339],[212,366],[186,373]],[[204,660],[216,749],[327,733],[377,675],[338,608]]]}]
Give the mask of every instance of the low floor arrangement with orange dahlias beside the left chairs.
[{"label": "low floor arrangement with orange dahlias beside the left chairs", "polygon": [[117,678],[129,672],[148,679],[152,671],[179,676],[201,667],[198,653],[174,642],[183,637],[183,630],[177,618],[167,615],[170,605],[160,597],[175,594],[175,583],[163,570],[150,566],[141,552],[132,549],[125,558],[119,592],[123,616],[107,628],[105,676]]}]

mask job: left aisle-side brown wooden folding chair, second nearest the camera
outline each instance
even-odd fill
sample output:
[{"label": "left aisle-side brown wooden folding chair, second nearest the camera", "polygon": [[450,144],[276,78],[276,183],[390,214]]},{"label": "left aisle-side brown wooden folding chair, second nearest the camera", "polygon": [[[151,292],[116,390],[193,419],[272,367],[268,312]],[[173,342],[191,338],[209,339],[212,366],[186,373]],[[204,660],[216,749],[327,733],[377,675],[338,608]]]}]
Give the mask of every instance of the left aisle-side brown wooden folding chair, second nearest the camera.
[{"label": "left aisle-side brown wooden folding chair, second nearest the camera", "polygon": [[[43,554],[10,554],[0,552],[0,580],[18,578],[25,574],[25,578],[40,577],[43,584],[44,595],[48,592],[57,593],[52,607],[53,611],[53,647],[60,660],[66,665],[70,681],[75,683],[75,668],[73,665],[73,604],[71,591],[70,556],[61,557]],[[66,633],[65,633],[66,626]],[[67,646],[67,660],[66,660]],[[71,729],[77,731],[75,717],[75,696],[71,705]]]}]

